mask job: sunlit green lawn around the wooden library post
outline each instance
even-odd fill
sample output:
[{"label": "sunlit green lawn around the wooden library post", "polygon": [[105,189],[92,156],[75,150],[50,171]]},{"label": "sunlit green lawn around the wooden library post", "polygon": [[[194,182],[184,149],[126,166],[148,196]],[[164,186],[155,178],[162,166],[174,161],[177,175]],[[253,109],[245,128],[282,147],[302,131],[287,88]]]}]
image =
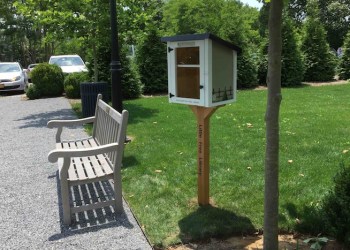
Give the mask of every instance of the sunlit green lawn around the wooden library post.
[{"label": "sunlit green lawn around the wooden library post", "polygon": [[[349,162],[350,84],[283,89],[280,114],[281,231],[332,187]],[[197,205],[196,120],[167,97],[124,102],[129,110],[123,193],[156,246],[252,233],[263,226],[267,92],[239,91],[211,117],[210,197]],[[75,108],[77,109],[77,108]]]}]

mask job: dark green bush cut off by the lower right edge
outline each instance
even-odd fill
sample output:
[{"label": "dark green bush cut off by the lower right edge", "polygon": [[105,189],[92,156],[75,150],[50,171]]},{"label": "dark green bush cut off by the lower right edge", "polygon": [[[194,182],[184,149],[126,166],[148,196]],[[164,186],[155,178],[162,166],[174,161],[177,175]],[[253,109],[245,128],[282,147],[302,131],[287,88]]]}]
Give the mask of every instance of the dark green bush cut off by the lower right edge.
[{"label": "dark green bush cut off by the lower right edge", "polygon": [[350,247],[350,167],[341,164],[323,209],[328,233]]}]

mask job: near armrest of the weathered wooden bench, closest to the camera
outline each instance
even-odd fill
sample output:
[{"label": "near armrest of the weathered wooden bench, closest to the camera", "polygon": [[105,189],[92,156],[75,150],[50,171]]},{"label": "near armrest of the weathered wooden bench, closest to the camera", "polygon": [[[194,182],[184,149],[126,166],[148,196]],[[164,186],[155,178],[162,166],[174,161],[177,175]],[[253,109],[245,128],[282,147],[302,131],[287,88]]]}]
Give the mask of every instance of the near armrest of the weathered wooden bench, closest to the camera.
[{"label": "near armrest of the weathered wooden bench, closest to the camera", "polygon": [[49,162],[54,163],[58,158],[71,158],[71,157],[86,157],[92,155],[104,154],[112,151],[117,151],[119,144],[110,143],[102,146],[97,146],[93,148],[83,148],[83,149],[54,149],[48,154]]}]

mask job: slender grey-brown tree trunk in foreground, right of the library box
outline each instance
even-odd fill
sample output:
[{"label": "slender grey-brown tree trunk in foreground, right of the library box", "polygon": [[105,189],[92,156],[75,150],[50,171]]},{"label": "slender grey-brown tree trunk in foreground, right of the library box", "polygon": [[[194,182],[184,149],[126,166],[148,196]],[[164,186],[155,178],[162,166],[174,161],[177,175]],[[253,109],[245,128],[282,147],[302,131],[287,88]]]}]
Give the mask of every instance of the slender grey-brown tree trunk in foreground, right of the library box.
[{"label": "slender grey-brown tree trunk in foreground, right of the library box", "polygon": [[283,0],[271,0],[269,15],[268,99],[265,116],[264,249],[266,250],[278,250],[279,109],[282,100],[282,2]]}]

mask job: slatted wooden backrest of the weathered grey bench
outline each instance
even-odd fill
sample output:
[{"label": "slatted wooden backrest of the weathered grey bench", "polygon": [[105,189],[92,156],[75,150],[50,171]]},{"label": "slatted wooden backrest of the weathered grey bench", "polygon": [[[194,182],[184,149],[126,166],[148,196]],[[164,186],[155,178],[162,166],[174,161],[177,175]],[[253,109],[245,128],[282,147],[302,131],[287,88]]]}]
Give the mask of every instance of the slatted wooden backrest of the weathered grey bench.
[{"label": "slatted wooden backrest of the weathered grey bench", "polygon": [[97,96],[92,137],[95,138],[99,145],[114,142],[119,144],[117,152],[107,153],[113,167],[121,166],[128,117],[129,113],[127,110],[123,110],[120,114],[102,100],[101,94]]}]

